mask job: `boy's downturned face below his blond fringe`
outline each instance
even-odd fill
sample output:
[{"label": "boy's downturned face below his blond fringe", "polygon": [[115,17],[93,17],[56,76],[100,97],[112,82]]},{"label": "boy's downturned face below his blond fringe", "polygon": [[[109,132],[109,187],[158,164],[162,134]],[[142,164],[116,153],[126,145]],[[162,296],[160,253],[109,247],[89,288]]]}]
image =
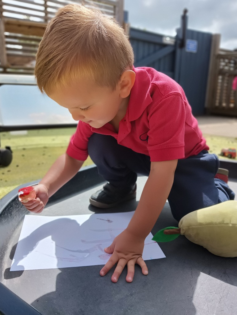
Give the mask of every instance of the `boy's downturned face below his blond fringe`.
[{"label": "boy's downturned face below his blond fringe", "polygon": [[[119,86],[98,87],[93,83],[77,82],[49,95],[59,105],[67,108],[75,120],[81,120],[94,128],[100,128],[126,108],[126,99],[120,97]],[[126,108],[125,108],[126,106]]]}]

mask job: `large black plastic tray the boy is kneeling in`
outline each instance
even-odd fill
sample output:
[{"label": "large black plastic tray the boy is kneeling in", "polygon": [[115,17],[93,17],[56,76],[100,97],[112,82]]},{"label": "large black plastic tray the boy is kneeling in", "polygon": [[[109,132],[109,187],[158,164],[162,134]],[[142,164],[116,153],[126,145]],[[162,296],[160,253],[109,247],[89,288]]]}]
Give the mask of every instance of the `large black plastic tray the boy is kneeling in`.
[{"label": "large black plastic tray the boy is kneeling in", "polygon": [[[237,164],[221,162],[221,167],[230,169],[229,185],[237,194]],[[138,176],[137,200],[109,212],[135,210],[145,181]],[[88,198],[102,185],[96,167],[87,167],[50,198],[40,215],[94,213]],[[113,271],[100,277],[101,266],[10,272],[24,215],[30,215],[17,200],[18,188],[0,201],[0,312],[4,315],[237,314],[237,258],[212,255],[184,236],[160,243],[166,258],[147,261],[147,276],[136,266],[132,283],[125,280],[126,270],[116,284],[110,280]],[[177,224],[166,203],[152,233]]]}]

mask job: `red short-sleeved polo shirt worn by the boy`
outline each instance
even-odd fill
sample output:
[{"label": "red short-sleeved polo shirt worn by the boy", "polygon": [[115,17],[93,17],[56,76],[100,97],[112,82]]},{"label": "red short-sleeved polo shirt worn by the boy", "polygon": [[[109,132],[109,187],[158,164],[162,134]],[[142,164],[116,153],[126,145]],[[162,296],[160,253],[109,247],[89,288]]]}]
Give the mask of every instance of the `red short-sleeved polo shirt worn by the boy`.
[{"label": "red short-sleeved polo shirt worn by the boy", "polygon": [[86,160],[87,142],[94,132],[113,136],[118,144],[150,156],[151,162],[186,158],[208,150],[178,83],[153,68],[133,67],[133,71],[136,79],[118,133],[110,123],[97,129],[79,121],[67,154]]}]

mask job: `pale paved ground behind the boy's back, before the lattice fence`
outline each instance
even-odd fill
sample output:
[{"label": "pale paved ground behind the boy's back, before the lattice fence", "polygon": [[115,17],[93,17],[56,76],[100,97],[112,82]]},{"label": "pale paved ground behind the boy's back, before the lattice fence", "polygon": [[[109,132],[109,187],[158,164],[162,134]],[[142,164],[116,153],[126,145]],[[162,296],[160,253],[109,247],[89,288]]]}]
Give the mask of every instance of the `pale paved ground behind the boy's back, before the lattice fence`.
[{"label": "pale paved ground behind the boy's back, before the lattice fence", "polygon": [[237,117],[200,116],[196,118],[203,134],[237,137]]}]

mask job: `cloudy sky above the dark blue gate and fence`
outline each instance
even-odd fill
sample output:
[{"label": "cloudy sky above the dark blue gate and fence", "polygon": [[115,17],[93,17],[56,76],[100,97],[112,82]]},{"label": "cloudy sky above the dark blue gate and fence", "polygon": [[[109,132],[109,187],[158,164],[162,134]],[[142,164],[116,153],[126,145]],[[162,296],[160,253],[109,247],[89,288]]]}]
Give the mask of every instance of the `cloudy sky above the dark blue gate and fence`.
[{"label": "cloudy sky above the dark blue gate and fence", "polygon": [[124,0],[131,27],[175,36],[183,9],[188,28],[221,34],[221,48],[237,48],[237,0]]}]

